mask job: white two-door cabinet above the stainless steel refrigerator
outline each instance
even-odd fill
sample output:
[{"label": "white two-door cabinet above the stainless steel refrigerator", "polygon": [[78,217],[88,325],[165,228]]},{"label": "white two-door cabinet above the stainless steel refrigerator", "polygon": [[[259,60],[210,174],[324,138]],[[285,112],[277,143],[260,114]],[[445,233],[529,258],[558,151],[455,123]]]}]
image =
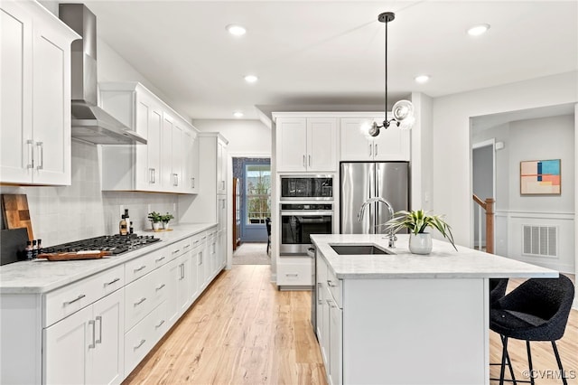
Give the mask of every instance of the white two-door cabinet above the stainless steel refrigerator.
[{"label": "white two-door cabinet above the stainless steel refrigerator", "polygon": [[378,136],[369,136],[373,122],[383,116],[342,117],[341,161],[409,161],[410,131],[395,126],[381,128]]}]

